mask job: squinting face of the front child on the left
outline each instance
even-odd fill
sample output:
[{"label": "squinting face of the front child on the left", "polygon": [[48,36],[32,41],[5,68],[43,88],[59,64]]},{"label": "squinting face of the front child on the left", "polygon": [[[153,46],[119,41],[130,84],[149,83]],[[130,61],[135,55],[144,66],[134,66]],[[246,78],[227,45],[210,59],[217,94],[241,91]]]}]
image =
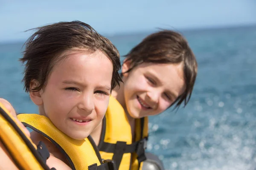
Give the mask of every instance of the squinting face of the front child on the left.
[{"label": "squinting face of the front child on the left", "polygon": [[35,103],[40,114],[71,138],[85,139],[105,115],[112,73],[113,65],[101,51],[70,54],[39,92],[41,103]]}]

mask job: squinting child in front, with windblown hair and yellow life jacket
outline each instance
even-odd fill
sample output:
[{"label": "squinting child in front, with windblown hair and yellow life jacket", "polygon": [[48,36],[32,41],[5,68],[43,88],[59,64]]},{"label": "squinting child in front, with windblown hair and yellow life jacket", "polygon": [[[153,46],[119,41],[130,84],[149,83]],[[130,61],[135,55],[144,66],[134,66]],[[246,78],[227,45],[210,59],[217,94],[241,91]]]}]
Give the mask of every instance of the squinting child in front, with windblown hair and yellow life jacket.
[{"label": "squinting child in front, with windblown hair and yellow life jacket", "polygon": [[37,28],[20,61],[26,63],[25,91],[39,109],[39,115],[18,116],[35,130],[32,141],[43,141],[72,169],[102,163],[93,160],[97,150],[90,151],[94,143],[86,138],[102,122],[111,91],[122,81],[116,47],[88,24],[60,22]]}]

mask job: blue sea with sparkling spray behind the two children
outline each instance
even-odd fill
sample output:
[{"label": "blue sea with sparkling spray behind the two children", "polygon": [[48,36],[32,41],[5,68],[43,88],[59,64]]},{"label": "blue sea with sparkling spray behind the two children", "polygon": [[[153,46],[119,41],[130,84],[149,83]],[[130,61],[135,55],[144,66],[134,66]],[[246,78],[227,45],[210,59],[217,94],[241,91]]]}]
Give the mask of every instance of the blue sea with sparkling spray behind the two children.
[{"label": "blue sea with sparkling spray behind the two children", "polygon": [[[251,170],[256,167],[256,26],[180,32],[197,57],[198,77],[185,108],[150,117],[148,152],[157,154],[166,170]],[[148,34],[108,38],[123,56]],[[23,43],[0,44],[0,97],[18,113],[38,113],[21,82]]]}]

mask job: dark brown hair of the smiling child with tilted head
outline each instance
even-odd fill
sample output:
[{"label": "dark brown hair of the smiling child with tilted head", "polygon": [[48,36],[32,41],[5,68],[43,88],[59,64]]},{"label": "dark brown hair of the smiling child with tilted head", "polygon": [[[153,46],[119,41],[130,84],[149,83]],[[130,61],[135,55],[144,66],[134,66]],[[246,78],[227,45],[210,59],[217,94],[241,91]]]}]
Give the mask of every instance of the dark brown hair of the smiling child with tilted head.
[{"label": "dark brown hair of the smiling child with tilted head", "polygon": [[197,62],[188,42],[182,35],[170,30],[151,34],[135,46],[125,57],[125,61],[131,62],[132,66],[127,72],[143,62],[183,63],[186,88],[172,105],[176,103],[175,108],[178,108],[184,102],[184,106],[186,106],[195,84]]}]

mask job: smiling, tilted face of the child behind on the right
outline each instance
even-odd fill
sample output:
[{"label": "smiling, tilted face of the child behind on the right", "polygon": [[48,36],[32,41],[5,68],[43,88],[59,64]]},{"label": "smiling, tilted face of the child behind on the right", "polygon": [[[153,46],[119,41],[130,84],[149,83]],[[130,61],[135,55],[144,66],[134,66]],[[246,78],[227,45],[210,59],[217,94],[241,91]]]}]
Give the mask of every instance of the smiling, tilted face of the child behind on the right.
[{"label": "smiling, tilted face of the child behind on the right", "polygon": [[[125,62],[122,73],[130,68]],[[133,118],[165,111],[185,90],[183,65],[143,63],[123,74],[126,109]]]}]

